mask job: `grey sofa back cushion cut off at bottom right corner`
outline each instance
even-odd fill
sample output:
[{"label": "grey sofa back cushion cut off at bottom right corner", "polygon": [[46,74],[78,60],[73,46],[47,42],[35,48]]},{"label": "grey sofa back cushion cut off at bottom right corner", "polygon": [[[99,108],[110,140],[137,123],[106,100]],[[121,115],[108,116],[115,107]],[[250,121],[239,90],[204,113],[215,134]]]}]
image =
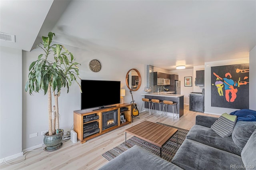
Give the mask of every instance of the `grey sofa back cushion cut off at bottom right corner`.
[{"label": "grey sofa back cushion cut off at bottom right corner", "polygon": [[242,160],[246,169],[256,168],[256,130],[252,133],[249,140],[246,142],[242,152]]}]

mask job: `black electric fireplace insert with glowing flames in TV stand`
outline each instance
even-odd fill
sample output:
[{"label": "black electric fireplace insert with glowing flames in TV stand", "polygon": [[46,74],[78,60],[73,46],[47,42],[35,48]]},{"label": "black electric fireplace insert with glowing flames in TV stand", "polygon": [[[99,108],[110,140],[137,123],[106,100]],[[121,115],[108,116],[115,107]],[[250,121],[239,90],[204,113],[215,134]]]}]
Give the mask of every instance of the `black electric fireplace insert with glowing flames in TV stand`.
[{"label": "black electric fireplace insert with glowing flames in TV stand", "polygon": [[118,109],[102,112],[102,130],[118,125]]}]

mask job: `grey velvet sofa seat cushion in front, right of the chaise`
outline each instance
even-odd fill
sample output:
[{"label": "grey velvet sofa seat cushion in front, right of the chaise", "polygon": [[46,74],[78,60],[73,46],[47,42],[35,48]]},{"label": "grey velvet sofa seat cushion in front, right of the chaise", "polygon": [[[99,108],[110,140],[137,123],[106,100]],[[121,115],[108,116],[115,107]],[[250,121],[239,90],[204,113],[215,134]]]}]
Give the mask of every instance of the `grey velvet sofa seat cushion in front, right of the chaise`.
[{"label": "grey velvet sofa seat cushion in front, right of the chaise", "polygon": [[241,156],[190,139],[184,140],[172,163],[189,170],[244,169]]}]

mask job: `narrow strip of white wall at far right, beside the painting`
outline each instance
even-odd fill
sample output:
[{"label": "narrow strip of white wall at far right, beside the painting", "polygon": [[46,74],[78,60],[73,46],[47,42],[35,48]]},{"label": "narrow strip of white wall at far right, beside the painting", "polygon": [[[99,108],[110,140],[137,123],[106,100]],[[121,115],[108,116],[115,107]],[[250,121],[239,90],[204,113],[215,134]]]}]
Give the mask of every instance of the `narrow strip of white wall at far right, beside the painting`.
[{"label": "narrow strip of white wall at far right, beside the painting", "polygon": [[256,111],[256,46],[250,51],[249,108]]}]

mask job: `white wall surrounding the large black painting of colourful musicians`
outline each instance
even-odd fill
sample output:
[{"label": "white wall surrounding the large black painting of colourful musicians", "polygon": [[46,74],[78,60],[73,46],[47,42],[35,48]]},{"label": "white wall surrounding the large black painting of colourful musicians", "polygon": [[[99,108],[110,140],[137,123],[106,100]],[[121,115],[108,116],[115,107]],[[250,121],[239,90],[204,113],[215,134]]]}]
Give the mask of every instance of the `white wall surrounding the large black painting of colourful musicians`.
[{"label": "white wall surrounding the large black painting of colourful musicians", "polygon": [[[211,107],[211,76],[210,75],[211,75],[211,67],[221,66],[221,65],[242,64],[242,63],[249,63],[249,58],[223,60],[223,61],[205,63],[205,65],[208,67],[205,67],[204,69],[204,88],[205,88],[204,89],[205,90],[204,91],[204,113],[213,113],[213,114],[221,115],[222,113],[231,113],[233,111],[238,110],[238,109],[229,109],[229,108],[222,108],[222,107]],[[249,79],[251,81],[253,77],[249,77]],[[252,83],[250,82],[250,85],[251,84]],[[250,94],[252,94],[251,91],[250,91]]]}]

